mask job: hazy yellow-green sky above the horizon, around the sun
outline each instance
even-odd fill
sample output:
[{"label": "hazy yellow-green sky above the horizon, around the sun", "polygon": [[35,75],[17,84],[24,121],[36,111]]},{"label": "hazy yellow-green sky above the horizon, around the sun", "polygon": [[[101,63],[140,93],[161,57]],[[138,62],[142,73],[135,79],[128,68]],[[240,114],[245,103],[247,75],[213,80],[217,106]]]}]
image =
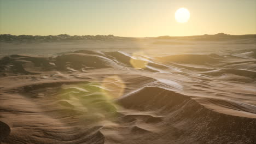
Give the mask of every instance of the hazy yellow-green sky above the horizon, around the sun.
[{"label": "hazy yellow-green sky above the horizon, around the sun", "polygon": [[[255,0],[0,0],[0,33],[29,35],[256,34]],[[190,20],[174,13],[185,7]]]}]

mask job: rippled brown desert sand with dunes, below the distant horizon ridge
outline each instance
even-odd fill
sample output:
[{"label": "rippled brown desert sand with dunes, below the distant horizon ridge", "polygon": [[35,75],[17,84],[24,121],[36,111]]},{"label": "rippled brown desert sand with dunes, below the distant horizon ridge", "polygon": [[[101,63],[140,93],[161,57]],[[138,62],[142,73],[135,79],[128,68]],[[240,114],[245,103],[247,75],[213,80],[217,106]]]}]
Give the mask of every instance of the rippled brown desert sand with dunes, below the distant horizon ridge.
[{"label": "rippled brown desert sand with dunes, below the distant horizon ridge", "polygon": [[1,43],[2,143],[255,143],[256,43]]}]

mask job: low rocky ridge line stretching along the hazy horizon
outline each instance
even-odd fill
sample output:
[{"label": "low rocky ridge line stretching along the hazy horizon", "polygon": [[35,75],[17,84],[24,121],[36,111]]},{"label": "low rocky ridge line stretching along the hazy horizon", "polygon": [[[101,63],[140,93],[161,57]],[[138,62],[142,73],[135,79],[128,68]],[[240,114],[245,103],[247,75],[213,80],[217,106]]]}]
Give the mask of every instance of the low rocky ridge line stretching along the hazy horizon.
[{"label": "low rocky ridge line stretching along the hazy horizon", "polygon": [[[136,39],[131,37],[117,37],[114,35],[11,35],[11,34],[0,34],[1,42],[28,42],[28,41],[41,41],[41,42],[50,42],[50,41],[73,41],[73,40],[125,40],[125,39]],[[234,39],[256,39],[256,34],[246,34],[246,35],[230,35],[224,33],[218,33],[214,35],[193,35],[193,36],[184,36],[184,37],[170,37],[170,36],[161,36],[152,39],[165,39],[165,40],[234,40]],[[173,42],[175,43],[175,42]],[[176,42],[177,43],[177,42]]]}]

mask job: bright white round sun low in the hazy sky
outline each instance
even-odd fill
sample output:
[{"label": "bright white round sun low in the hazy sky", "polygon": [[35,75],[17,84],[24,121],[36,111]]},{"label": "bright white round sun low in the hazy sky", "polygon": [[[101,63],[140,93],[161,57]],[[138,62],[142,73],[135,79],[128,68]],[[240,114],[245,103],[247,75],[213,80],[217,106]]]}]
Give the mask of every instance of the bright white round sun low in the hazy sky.
[{"label": "bright white round sun low in the hazy sky", "polygon": [[175,13],[175,19],[177,22],[187,22],[190,18],[189,10],[186,8],[179,8]]}]

